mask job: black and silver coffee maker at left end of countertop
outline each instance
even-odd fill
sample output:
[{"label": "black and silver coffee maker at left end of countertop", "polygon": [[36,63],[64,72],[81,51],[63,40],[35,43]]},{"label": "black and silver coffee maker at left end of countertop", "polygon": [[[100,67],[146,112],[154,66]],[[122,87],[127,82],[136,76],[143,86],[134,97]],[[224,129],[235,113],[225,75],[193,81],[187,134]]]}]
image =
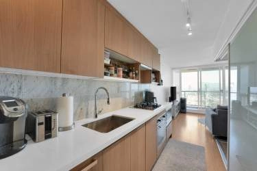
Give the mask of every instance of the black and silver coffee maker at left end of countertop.
[{"label": "black and silver coffee maker at left end of countertop", "polygon": [[0,96],[0,159],[25,148],[27,105],[19,98]]}]

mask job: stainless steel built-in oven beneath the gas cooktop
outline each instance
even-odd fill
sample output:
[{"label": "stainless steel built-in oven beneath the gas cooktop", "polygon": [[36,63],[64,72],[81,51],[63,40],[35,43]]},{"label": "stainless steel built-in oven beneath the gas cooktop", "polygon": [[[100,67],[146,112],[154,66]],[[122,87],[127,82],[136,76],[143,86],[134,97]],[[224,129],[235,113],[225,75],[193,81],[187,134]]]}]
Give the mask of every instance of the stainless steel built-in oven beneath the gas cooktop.
[{"label": "stainless steel built-in oven beneath the gas cooktop", "polygon": [[166,113],[164,112],[157,120],[157,153],[162,152],[166,142]]}]

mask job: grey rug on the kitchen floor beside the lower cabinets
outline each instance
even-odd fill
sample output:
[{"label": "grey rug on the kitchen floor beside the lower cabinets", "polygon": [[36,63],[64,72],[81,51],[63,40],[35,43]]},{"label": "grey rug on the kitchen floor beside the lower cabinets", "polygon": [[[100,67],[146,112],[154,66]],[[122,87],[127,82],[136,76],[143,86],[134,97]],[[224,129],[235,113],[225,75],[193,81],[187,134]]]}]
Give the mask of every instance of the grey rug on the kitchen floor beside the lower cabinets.
[{"label": "grey rug on the kitchen floor beside the lower cabinets", "polygon": [[206,171],[204,147],[171,139],[162,151],[153,170]]}]

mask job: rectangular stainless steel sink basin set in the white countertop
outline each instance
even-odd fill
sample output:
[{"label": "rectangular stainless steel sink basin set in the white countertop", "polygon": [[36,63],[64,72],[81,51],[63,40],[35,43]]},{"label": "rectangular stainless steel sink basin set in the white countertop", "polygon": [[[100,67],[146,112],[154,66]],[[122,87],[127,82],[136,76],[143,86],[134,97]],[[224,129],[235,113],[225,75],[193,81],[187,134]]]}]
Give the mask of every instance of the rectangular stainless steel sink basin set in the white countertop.
[{"label": "rectangular stainless steel sink basin set in the white countertop", "polygon": [[88,124],[83,124],[83,127],[93,129],[100,133],[108,133],[118,127],[121,127],[123,124],[134,120],[134,118],[125,118],[122,116],[109,116],[95,122],[90,122]]}]

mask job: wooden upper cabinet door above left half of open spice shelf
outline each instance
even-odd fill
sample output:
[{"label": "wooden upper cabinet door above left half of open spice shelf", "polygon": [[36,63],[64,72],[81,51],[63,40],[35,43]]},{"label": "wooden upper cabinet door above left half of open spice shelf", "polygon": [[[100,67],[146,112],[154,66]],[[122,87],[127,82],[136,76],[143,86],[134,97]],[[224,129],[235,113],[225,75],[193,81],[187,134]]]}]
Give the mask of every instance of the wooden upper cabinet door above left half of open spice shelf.
[{"label": "wooden upper cabinet door above left half of open spice shelf", "polygon": [[106,8],[105,47],[128,56],[128,27],[121,15],[111,8]]}]

